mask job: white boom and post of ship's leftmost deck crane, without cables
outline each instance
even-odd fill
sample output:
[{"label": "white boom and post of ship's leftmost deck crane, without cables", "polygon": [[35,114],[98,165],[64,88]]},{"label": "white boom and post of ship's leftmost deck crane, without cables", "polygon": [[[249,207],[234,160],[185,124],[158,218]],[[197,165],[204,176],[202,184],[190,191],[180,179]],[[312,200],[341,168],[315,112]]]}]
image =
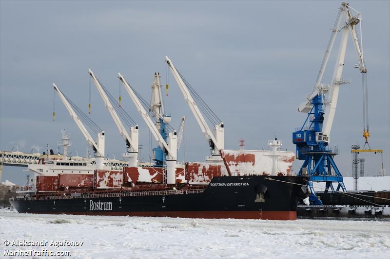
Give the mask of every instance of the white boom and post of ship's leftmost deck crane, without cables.
[{"label": "white boom and post of ship's leftmost deck crane, without cables", "polygon": [[104,160],[104,131],[98,133],[98,142],[96,143],[94,139],[89,134],[88,130],[85,128],[84,124],[82,124],[81,120],[78,118],[76,112],[73,110],[72,106],[66,100],[65,96],[59,90],[58,86],[53,83],[53,88],[57,91],[59,98],[62,103],[65,105],[65,108],[68,110],[71,118],[75,121],[76,125],[80,129],[81,133],[84,135],[85,139],[89,143],[89,145],[93,146],[96,150],[96,168],[98,170],[103,169],[103,160]]}]

